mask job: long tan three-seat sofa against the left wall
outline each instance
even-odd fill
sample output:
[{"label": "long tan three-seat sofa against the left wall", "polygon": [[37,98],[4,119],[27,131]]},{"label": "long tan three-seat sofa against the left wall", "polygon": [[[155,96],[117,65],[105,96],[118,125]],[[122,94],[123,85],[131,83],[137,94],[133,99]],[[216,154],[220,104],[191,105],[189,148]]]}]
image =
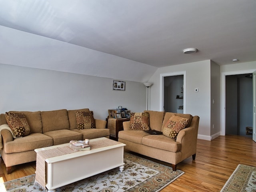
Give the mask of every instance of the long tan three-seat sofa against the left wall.
[{"label": "long tan three-seat sofa against the left wall", "polygon": [[[8,128],[6,114],[0,114],[0,127],[2,127],[0,130],[2,136],[0,154],[6,165],[7,173],[12,171],[14,165],[36,161],[36,152],[34,151],[36,148],[68,143],[70,140],[109,138],[110,131],[106,129],[105,120],[94,119],[95,128],[78,130],[77,111],[90,112],[88,108],[18,112],[24,114],[30,128],[30,133],[27,136],[19,138],[14,138],[12,133],[4,128],[6,126]],[[90,114],[93,116],[93,112]]]}]

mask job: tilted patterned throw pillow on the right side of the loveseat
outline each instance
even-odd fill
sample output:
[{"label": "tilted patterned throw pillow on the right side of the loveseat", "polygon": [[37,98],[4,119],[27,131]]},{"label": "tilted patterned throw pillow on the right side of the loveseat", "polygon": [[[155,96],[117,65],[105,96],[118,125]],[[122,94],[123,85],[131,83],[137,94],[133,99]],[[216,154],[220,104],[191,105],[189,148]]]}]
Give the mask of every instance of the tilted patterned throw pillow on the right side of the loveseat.
[{"label": "tilted patterned throw pillow on the right side of the loveseat", "polygon": [[186,127],[188,122],[189,120],[187,118],[177,115],[171,116],[163,128],[163,135],[176,140],[178,133]]}]

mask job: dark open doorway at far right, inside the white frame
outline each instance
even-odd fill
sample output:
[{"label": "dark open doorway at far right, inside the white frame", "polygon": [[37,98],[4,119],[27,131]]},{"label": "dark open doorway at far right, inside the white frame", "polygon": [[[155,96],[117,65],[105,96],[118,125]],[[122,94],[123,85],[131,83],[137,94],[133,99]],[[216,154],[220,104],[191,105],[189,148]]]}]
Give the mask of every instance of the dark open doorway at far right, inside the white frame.
[{"label": "dark open doorway at far right, inside the white frame", "polygon": [[252,74],[225,76],[226,80],[226,135],[252,138]]}]

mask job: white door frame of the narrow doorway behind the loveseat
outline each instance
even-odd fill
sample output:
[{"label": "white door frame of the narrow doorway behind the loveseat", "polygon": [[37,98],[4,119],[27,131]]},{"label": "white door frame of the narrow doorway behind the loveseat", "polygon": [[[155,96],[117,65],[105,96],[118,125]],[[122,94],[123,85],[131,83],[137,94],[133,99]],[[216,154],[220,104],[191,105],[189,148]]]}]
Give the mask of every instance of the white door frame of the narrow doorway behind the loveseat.
[{"label": "white door frame of the narrow doorway behind the loveseat", "polygon": [[160,74],[160,111],[164,111],[164,77],[183,75],[183,113],[186,114],[186,71]]}]

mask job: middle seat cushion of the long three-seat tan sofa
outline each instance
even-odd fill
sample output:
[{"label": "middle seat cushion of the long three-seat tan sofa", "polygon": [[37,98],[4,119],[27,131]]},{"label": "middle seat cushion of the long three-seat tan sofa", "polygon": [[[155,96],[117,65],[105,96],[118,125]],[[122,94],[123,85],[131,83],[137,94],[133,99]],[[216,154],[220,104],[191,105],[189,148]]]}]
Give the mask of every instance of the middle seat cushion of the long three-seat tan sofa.
[{"label": "middle seat cushion of the long three-seat tan sofa", "polygon": [[82,134],[67,129],[49,131],[44,134],[53,138],[54,145],[69,143],[71,140],[83,140]]}]

